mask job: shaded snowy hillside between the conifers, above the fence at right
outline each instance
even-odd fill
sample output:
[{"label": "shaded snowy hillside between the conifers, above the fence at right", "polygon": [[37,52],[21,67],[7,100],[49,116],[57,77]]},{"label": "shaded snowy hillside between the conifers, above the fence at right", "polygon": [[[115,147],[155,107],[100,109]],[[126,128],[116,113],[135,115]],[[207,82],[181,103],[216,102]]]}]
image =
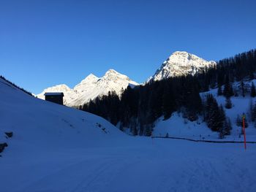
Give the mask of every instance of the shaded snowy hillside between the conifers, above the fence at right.
[{"label": "shaded snowy hillside between the conifers, above the fence at right", "polygon": [[[254,80],[254,82],[256,83],[256,80]],[[251,81],[245,82],[245,87],[249,87],[251,83]],[[239,86],[239,83],[235,83],[234,88],[238,89]],[[200,95],[202,99],[205,99],[205,96],[208,93],[213,94],[219,105],[222,104],[223,107],[225,106],[225,97],[217,96],[217,88],[201,93]],[[247,141],[256,141],[256,128],[254,123],[250,123],[250,115],[248,114],[250,102],[252,101],[252,104],[255,104],[256,99],[253,99],[249,96],[249,93],[247,93],[245,97],[241,96],[241,94],[238,97],[233,96],[231,97],[231,101],[233,103],[233,107],[228,110],[224,107],[224,110],[227,117],[231,120],[233,129],[230,135],[221,140],[244,141],[244,137],[241,137],[241,127],[236,126],[236,118],[238,115],[241,117],[241,115],[245,113],[246,118],[249,121],[249,127],[246,128]],[[203,122],[202,118],[199,118],[197,121],[190,122],[189,120],[182,118],[182,114],[178,112],[173,113],[172,117],[168,120],[163,120],[163,118],[159,118],[159,120],[157,120],[153,135],[157,137],[165,137],[167,133],[169,137],[210,140],[219,139],[219,133],[211,131],[211,129],[206,126],[206,123]]]}]

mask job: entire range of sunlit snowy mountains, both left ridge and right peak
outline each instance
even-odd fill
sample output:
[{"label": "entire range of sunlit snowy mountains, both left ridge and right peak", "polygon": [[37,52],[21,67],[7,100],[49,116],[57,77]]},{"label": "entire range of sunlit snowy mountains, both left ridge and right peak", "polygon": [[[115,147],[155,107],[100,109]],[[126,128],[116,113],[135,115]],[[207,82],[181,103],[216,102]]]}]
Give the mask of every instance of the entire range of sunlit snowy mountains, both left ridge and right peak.
[{"label": "entire range of sunlit snowy mountains, both left ridge and right peak", "polygon": [[[146,82],[152,80],[162,80],[168,77],[178,77],[182,75],[202,72],[203,69],[215,66],[215,61],[206,61],[196,55],[184,51],[176,51],[157,69],[157,72],[148,78]],[[78,107],[95,99],[97,96],[107,95],[109,91],[116,91],[118,95],[121,90],[130,85],[134,87],[139,85],[138,82],[130,80],[124,74],[120,74],[113,69],[108,70],[103,77],[96,77],[89,74],[75,88],[69,88],[67,85],[56,85],[46,88],[42,93],[37,95],[38,98],[44,99],[45,92],[63,92],[64,104],[69,107]]]}]

